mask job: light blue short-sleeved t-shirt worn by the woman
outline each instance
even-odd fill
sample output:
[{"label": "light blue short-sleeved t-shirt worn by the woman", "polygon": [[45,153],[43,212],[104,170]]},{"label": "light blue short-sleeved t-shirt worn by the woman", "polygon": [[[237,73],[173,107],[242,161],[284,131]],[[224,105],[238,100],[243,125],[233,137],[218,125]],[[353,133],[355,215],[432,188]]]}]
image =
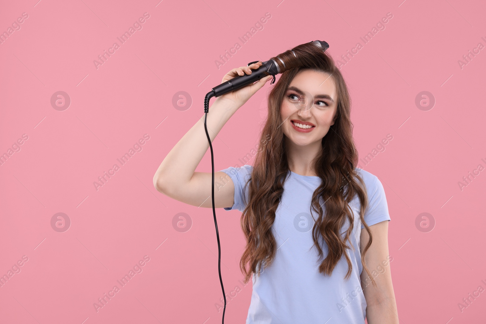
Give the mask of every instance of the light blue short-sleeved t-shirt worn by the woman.
[{"label": "light blue short-sleeved t-shirt worn by the woman", "polygon": [[[243,188],[251,176],[252,168],[244,165],[238,169],[229,167],[221,170],[231,177],[235,186],[234,205],[225,207],[225,210],[243,211],[248,186],[245,192]],[[368,194],[369,206],[364,214],[365,222],[371,226],[390,221],[385,192],[378,177],[359,168],[356,171],[362,176]],[[364,225],[359,217],[359,199],[355,196],[349,204],[354,213],[354,228],[350,239],[355,249],[354,252],[347,250],[352,263],[351,277],[349,280],[344,279],[348,269],[344,256],[332,275],[324,276],[318,271],[320,262],[313,247],[314,221],[310,214],[312,193],[321,180],[317,176],[305,176],[292,171],[289,173],[272,225],[277,253],[271,266],[261,267],[259,276],[253,274],[253,292],[246,324],[364,324],[366,300],[360,280],[363,270],[360,234]],[[324,208],[325,204],[323,211]],[[318,213],[312,210],[312,215],[316,218]],[[345,233],[348,226],[349,222],[346,221],[341,233]],[[323,244],[325,257],[328,248]]]}]

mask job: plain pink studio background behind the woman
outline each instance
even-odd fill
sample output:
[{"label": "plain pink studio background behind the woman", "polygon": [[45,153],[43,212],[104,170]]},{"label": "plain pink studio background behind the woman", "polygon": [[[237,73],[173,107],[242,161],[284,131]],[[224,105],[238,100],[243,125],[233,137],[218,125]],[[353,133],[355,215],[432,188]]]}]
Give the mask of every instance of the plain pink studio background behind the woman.
[{"label": "plain pink studio background behind the woman", "polygon": [[[351,92],[360,158],[387,134],[393,136],[384,152],[360,165],[379,176],[385,188],[400,323],[485,320],[485,292],[462,312],[458,307],[478,286],[486,289],[481,281],[486,282],[486,221],[480,204],[486,171],[462,190],[458,185],[479,164],[486,167],[481,160],[486,160],[486,50],[462,68],[458,63],[478,43],[486,45],[481,38],[486,38],[485,4],[319,2],[33,0],[2,5],[0,32],[22,13],[28,18],[0,44],[0,153],[23,134],[28,139],[0,166],[0,274],[22,256],[28,261],[0,288],[1,323],[221,323],[212,211],[158,193],[153,175],[204,116],[204,95],[228,70],[316,39],[330,44],[335,59],[358,42],[363,46],[341,68]],[[263,29],[243,44],[238,37],[267,12],[271,18]],[[144,13],[150,17],[142,29],[121,44],[117,37]],[[360,37],[387,13],[393,18],[385,29],[364,44]],[[96,68],[93,61],[114,42],[120,48]],[[237,42],[241,49],[218,69],[215,61]],[[255,94],[214,140],[216,170],[241,166],[238,159],[257,144],[269,87]],[[61,107],[65,110],[51,104],[57,91],[69,95],[69,107]],[[190,107],[175,109],[178,91],[189,93]],[[418,109],[422,91],[434,97],[432,109]],[[150,139],[142,151],[96,190],[98,176],[144,134]],[[210,172],[210,162],[208,150],[197,171]],[[65,232],[51,225],[59,212],[71,222]],[[181,212],[192,220],[189,231],[172,225]],[[432,231],[432,226],[428,232],[416,226],[423,212],[434,219]],[[244,323],[251,283],[243,287],[239,282],[240,212],[217,209],[216,215],[226,292],[242,289],[228,299],[225,320]],[[143,271],[96,311],[93,303],[144,256],[150,261]]]}]

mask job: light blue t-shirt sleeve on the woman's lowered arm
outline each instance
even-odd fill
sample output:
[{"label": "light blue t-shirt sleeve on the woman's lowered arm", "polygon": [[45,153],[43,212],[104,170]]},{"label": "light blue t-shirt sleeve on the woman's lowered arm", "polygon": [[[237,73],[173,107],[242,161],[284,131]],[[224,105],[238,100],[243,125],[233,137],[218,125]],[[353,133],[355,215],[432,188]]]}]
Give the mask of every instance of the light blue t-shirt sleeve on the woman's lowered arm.
[{"label": "light blue t-shirt sleeve on the woman's lowered arm", "polygon": [[[390,221],[390,214],[388,213],[388,204],[386,203],[385,190],[378,177],[374,177],[372,185],[367,191],[368,207],[364,212],[364,221],[368,226],[374,225],[383,221]],[[364,228],[364,224],[361,224]]]}]

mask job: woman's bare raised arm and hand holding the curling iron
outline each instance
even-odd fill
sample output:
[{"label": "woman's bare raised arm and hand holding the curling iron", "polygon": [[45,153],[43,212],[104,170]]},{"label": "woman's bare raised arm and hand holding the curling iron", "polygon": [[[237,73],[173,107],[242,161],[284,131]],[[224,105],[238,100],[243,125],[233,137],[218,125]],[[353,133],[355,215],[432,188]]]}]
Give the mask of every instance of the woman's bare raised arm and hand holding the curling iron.
[{"label": "woman's bare raised arm and hand holding the curling iron", "polygon": [[[236,75],[250,74],[250,68],[256,69],[260,66],[261,62],[249,67],[234,68],[225,75],[223,82]],[[211,143],[228,119],[270,78],[271,76],[267,76],[253,85],[247,85],[216,98],[209,108],[206,121]],[[212,174],[211,172],[194,172],[208,148],[203,115],[175,144],[158,167],[154,175],[154,187],[157,191],[185,204],[211,208]],[[224,172],[215,172],[215,181],[221,176],[227,181],[225,180],[226,185],[215,190],[214,207],[231,207],[234,204],[234,184]]]}]

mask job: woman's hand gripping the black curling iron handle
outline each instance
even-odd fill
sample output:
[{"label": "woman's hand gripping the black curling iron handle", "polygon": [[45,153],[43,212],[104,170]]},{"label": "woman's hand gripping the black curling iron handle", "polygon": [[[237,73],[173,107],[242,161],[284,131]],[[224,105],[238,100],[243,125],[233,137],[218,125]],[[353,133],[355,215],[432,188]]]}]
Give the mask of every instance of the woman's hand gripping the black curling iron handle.
[{"label": "woman's hand gripping the black curling iron handle", "polygon": [[[248,67],[233,68],[231,71],[226,73],[221,83],[225,83],[226,81],[235,78],[237,75],[244,75],[245,73],[251,74],[251,69],[260,68],[261,64],[261,61],[259,61],[258,63],[253,63]],[[231,107],[238,109],[243,106],[243,104],[247,102],[248,99],[250,99],[250,97],[253,96],[255,92],[257,92],[271,78],[272,76],[268,75],[264,78],[261,78],[252,85],[246,85],[236,91],[228,92],[222,96],[217,97],[215,102],[222,102],[226,106],[230,105]]]}]

